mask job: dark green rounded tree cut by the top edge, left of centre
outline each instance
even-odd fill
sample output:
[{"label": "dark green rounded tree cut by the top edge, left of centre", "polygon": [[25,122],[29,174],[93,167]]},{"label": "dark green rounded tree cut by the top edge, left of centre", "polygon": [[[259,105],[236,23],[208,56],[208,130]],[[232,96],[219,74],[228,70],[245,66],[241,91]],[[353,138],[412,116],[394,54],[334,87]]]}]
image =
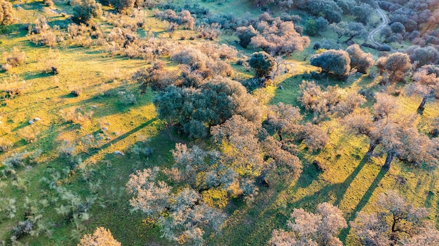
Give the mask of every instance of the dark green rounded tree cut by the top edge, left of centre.
[{"label": "dark green rounded tree cut by the top edge, left of centre", "polygon": [[93,17],[102,15],[102,6],[95,0],[75,0],[73,3],[73,16],[76,22],[87,23]]}]

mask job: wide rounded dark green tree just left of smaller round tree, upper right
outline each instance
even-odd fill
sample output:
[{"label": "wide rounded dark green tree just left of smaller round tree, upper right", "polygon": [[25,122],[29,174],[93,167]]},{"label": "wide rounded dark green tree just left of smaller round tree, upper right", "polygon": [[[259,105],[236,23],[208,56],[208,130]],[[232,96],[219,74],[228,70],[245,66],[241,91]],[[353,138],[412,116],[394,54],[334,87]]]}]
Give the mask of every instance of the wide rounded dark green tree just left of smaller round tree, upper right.
[{"label": "wide rounded dark green tree just left of smaller round tree, upper right", "polygon": [[326,50],[317,55],[313,55],[309,60],[313,66],[322,68],[323,71],[334,73],[335,75],[346,76],[351,71],[351,59],[344,50]]}]

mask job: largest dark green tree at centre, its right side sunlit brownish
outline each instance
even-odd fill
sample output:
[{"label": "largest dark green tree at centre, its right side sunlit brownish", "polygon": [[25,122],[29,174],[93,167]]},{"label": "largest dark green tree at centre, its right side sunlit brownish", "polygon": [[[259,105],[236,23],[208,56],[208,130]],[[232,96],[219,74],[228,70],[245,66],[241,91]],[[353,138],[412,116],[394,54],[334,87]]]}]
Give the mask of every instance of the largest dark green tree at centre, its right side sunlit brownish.
[{"label": "largest dark green tree at centre, its right side sunlit brownish", "polygon": [[232,115],[261,120],[259,103],[239,82],[217,78],[199,88],[170,86],[153,99],[158,117],[180,124],[191,138],[208,136],[210,126],[224,123]]}]

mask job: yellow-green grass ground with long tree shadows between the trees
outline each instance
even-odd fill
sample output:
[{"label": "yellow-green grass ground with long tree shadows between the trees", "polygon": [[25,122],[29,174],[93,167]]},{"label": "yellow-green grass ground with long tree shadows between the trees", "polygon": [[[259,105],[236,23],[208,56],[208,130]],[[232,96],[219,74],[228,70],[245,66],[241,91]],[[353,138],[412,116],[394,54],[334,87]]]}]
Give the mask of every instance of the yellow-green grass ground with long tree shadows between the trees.
[{"label": "yellow-green grass ground with long tree shadows between the trees", "polygon": [[[173,127],[157,118],[151,101],[155,92],[148,89],[142,94],[139,85],[130,79],[132,73],[151,64],[143,59],[109,55],[95,45],[91,48],[70,44],[53,48],[36,46],[26,36],[27,24],[40,16],[46,16],[51,25],[64,23],[66,17],[60,12],[71,13],[72,7],[65,1],[55,1],[53,12],[43,7],[42,1],[13,1],[13,4],[20,21],[0,35],[0,52],[10,52],[13,47],[18,47],[25,52],[26,59],[25,64],[0,72],[0,84],[24,80],[25,87],[21,95],[3,96],[0,101],[0,138],[12,143],[7,152],[1,152],[0,159],[25,151],[32,154],[41,150],[41,155],[35,160],[27,157],[15,176],[0,178],[0,196],[15,199],[17,207],[15,217],[0,216],[0,242],[11,243],[11,230],[24,219],[23,203],[30,199],[41,204],[37,206],[43,215],[41,221],[51,233],[25,236],[20,239],[21,243],[76,245],[83,234],[104,226],[122,245],[174,245],[161,238],[159,228],[145,221],[140,212],[130,212],[130,196],[124,191],[130,173],[152,166],[171,166],[170,150],[175,143],[189,143],[187,138],[175,133]],[[251,6],[250,1],[227,1],[224,4],[201,1],[201,5],[210,8],[212,13],[250,16],[262,13],[259,8]],[[147,22],[154,33],[165,31],[166,25],[151,17],[150,10],[147,13]],[[104,20],[97,21],[111,28]],[[332,37],[329,32],[324,35]],[[279,76],[276,85],[252,91],[265,108],[279,102],[288,103],[299,106],[302,113],[308,114],[305,119],[311,119],[311,113],[306,113],[297,96],[302,80],[311,80],[305,73],[317,69],[309,65],[307,54],[313,54],[312,44],[319,39],[311,38],[309,48],[289,59],[294,67],[292,73]],[[212,42],[232,43],[235,40],[236,37],[230,34],[222,34],[218,41]],[[236,48],[241,55],[250,56],[254,51]],[[377,58],[377,53],[374,53],[374,58]],[[168,57],[163,59],[169,60]],[[3,57],[0,62],[4,64]],[[48,64],[58,66],[60,73],[46,73]],[[245,71],[241,66],[234,68],[240,78],[252,76],[251,71]],[[378,91],[381,88],[377,79],[353,75],[346,82],[325,79],[318,83],[323,86],[337,83],[344,89],[356,91],[362,87]],[[282,85],[283,89],[277,85]],[[79,96],[72,96],[72,90],[80,91]],[[126,95],[135,102],[127,102]],[[421,101],[403,95],[395,99],[405,113],[416,113]],[[371,106],[372,100],[366,106]],[[69,112],[92,116],[76,123],[69,122],[65,120]],[[420,121],[426,124],[438,115],[439,103],[430,102]],[[29,120],[36,117],[41,120],[29,124]],[[259,195],[250,205],[232,199],[225,208],[229,217],[222,233],[208,238],[206,245],[264,245],[273,229],[285,229],[293,208],[313,211],[322,202],[337,205],[349,222],[355,218],[356,212],[372,211],[377,194],[387,189],[397,189],[414,205],[431,208],[430,219],[439,224],[438,171],[407,166],[399,161],[393,161],[387,171],[381,168],[384,157],[377,155],[365,159],[366,138],[346,134],[337,120],[327,120],[323,127],[330,133],[330,142],[323,150],[311,153],[304,145],[299,145],[297,155],[303,164],[300,177],[294,180],[288,173],[276,170],[269,175],[271,185],[259,189]],[[35,140],[26,140],[29,136],[35,136]],[[202,142],[195,143],[203,145]],[[74,168],[72,161],[60,157],[63,143],[74,146]],[[136,144],[147,145],[153,154],[150,157],[136,154],[133,152]],[[325,171],[313,164],[315,160],[325,166]],[[4,166],[0,164],[0,171],[2,168]],[[61,206],[67,206],[69,200],[57,194],[53,187],[63,187],[81,201],[93,198],[90,218],[85,222],[71,222],[56,212]],[[346,245],[358,244],[349,229],[343,230],[340,238]]]}]

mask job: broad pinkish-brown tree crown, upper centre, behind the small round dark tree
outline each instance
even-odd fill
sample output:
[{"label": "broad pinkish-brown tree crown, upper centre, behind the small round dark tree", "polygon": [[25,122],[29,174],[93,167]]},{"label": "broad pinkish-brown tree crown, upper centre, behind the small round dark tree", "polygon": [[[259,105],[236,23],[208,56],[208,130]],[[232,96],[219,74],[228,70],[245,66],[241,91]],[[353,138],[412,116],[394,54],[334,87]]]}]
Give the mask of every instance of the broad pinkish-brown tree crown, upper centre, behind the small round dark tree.
[{"label": "broad pinkish-brown tree crown, upper centre, behind the small round dark tree", "polygon": [[307,36],[300,36],[294,23],[283,22],[280,17],[274,18],[271,24],[259,22],[257,30],[259,34],[251,38],[250,44],[272,55],[302,52],[310,43]]}]

